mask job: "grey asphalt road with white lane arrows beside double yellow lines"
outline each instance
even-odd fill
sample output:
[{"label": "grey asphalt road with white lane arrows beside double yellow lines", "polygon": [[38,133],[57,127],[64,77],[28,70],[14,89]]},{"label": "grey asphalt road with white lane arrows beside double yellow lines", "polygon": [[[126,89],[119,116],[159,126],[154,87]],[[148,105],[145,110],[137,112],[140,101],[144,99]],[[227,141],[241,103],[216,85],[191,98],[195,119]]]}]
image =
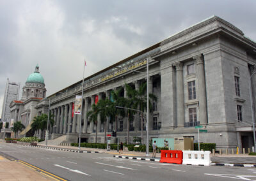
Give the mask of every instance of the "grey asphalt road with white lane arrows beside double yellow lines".
[{"label": "grey asphalt road with white lane arrows beside double yellow lines", "polygon": [[256,168],[187,166],[0,143],[8,154],[67,180],[256,180]]}]

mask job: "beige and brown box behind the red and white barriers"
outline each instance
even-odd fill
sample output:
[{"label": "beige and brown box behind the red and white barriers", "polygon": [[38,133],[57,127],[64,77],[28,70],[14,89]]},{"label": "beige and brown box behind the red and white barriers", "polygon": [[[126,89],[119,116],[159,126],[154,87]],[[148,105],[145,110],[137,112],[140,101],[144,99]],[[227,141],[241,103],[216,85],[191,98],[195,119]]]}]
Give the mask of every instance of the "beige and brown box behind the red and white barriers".
[{"label": "beige and brown box behind the red and white barriers", "polygon": [[194,150],[193,138],[174,138],[174,150]]}]

